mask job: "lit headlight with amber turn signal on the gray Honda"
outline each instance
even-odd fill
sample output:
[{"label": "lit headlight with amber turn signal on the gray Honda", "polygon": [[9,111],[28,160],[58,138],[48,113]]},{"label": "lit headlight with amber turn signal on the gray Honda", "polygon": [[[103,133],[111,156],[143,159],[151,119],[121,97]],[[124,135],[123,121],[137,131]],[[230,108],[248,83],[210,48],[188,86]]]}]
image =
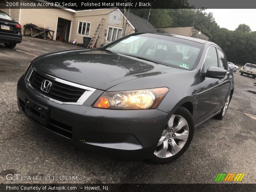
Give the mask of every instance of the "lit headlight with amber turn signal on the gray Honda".
[{"label": "lit headlight with amber turn signal on the gray Honda", "polygon": [[93,107],[107,109],[155,109],[168,93],[167,87],[104,92]]}]

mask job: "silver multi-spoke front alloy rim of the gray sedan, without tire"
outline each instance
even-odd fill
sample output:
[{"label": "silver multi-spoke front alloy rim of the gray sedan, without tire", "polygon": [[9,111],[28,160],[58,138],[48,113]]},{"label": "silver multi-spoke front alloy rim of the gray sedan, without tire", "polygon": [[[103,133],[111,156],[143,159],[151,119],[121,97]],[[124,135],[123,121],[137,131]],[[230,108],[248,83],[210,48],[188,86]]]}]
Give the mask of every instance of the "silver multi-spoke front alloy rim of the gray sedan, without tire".
[{"label": "silver multi-spoke front alloy rim of the gray sedan, without tire", "polygon": [[189,126],[186,119],[179,115],[172,115],[157,144],[154,155],[168,158],[177,154],[188,140]]}]

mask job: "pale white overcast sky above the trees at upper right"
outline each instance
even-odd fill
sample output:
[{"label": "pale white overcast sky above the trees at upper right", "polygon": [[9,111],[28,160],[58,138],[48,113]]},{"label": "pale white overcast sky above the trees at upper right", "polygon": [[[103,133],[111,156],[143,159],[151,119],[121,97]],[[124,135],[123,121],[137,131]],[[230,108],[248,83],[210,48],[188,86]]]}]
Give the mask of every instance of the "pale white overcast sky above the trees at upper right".
[{"label": "pale white overcast sky above the trees at upper right", "polygon": [[239,24],[246,24],[256,31],[256,9],[207,9],[206,13],[209,12],[222,28],[235,30]]}]

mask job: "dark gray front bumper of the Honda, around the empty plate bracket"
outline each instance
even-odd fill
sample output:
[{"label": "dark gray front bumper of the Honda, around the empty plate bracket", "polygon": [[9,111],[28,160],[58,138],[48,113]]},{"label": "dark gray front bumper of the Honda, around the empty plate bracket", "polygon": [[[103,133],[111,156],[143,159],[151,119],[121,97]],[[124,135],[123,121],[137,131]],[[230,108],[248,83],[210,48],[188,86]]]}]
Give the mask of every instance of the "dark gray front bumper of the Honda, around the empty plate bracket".
[{"label": "dark gray front bumper of the Honda, around the empty plate bracket", "polygon": [[[91,104],[102,94],[97,90],[82,105],[58,104],[27,87],[24,77],[18,81],[18,107],[24,112],[26,99],[49,108],[50,124],[44,126],[27,116],[40,128],[58,135],[86,150],[121,158],[150,158],[170,114],[154,110],[106,110]],[[24,112],[25,113],[25,112]],[[26,113],[25,113],[26,114]]]}]

